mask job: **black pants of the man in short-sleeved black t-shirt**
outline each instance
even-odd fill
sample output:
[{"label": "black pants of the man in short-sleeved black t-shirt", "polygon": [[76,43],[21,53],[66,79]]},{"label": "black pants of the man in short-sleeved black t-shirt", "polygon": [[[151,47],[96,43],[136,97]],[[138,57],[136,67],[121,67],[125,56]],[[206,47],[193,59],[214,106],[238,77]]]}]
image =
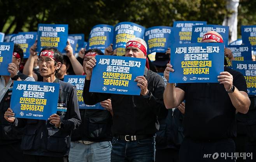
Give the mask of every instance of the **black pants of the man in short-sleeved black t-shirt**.
[{"label": "black pants of the man in short-sleeved black t-shirt", "polygon": [[231,153],[234,152],[235,142],[233,139],[221,139],[218,141],[195,141],[184,138],[179,152],[179,161],[235,162],[235,159],[232,160],[230,157],[221,157],[221,153],[231,155]]}]

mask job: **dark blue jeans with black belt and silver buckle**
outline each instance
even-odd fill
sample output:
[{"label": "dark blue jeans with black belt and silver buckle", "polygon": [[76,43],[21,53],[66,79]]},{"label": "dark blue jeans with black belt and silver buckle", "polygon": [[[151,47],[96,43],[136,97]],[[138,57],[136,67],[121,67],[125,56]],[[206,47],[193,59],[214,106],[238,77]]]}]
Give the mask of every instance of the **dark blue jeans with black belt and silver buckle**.
[{"label": "dark blue jeans with black belt and silver buckle", "polygon": [[154,162],[155,138],[137,141],[112,139],[111,162]]}]

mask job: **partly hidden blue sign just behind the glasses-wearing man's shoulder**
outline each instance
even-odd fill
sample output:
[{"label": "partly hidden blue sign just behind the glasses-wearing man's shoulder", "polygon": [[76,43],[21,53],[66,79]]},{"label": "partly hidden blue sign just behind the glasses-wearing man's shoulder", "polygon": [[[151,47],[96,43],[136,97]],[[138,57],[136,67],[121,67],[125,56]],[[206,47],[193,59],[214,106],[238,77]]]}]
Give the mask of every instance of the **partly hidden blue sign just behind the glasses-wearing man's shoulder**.
[{"label": "partly hidden blue sign just behind the glasses-wearing man's shoulder", "polygon": [[86,105],[84,104],[84,99],[82,97],[82,91],[84,89],[84,80],[85,75],[65,75],[64,76],[64,82],[70,83],[75,85],[77,89],[77,99],[78,99],[78,105],[79,109],[101,109],[105,110],[100,103],[97,103],[96,105]]}]

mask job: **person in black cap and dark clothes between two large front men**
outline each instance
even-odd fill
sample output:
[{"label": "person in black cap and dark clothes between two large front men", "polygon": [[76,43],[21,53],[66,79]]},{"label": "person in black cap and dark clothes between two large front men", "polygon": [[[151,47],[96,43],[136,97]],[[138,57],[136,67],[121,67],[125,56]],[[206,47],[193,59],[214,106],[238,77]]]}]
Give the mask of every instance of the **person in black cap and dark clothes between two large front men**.
[{"label": "person in black cap and dark clothes between two large front men", "polygon": [[[163,73],[169,61],[170,48],[165,53],[156,52],[153,62],[156,71]],[[179,148],[184,137],[182,126],[184,110],[185,103],[182,102],[178,108],[169,109],[168,114],[158,116],[160,128],[156,132],[156,162],[179,161]]]}]

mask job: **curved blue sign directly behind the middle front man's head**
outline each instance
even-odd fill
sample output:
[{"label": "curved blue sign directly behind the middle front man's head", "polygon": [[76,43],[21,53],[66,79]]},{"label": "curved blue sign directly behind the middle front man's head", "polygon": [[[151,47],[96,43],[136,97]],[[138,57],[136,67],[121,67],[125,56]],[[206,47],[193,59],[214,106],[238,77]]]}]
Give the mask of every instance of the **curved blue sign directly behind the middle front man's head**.
[{"label": "curved blue sign directly behind the middle front man's head", "polygon": [[114,27],[113,50],[116,49],[117,56],[125,54],[125,45],[128,40],[144,37],[145,28],[135,23],[121,22]]}]

